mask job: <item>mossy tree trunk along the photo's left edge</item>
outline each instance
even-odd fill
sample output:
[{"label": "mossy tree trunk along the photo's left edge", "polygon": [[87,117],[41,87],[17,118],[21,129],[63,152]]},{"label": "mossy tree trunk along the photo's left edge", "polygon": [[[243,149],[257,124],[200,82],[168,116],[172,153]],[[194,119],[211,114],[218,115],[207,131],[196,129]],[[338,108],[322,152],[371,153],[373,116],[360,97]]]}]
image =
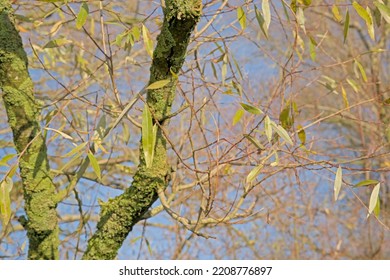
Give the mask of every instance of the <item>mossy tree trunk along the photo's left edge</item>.
[{"label": "mossy tree trunk along the photo's left edge", "polygon": [[19,153],[28,218],[22,219],[29,238],[28,258],[58,259],[56,194],[38,122],[40,108],[8,0],[0,0],[0,89]]}]

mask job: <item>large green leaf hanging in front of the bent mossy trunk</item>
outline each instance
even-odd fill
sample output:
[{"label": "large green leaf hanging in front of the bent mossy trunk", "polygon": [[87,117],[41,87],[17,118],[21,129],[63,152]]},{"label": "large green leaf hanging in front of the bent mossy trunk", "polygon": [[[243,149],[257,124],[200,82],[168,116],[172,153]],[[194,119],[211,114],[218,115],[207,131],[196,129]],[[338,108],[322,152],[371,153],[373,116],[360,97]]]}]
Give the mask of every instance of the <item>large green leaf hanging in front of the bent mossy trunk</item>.
[{"label": "large green leaf hanging in front of the bent mossy trunk", "polygon": [[152,115],[148,105],[145,104],[142,112],[142,148],[145,156],[146,167],[152,167],[154,157],[154,145],[156,142]]}]

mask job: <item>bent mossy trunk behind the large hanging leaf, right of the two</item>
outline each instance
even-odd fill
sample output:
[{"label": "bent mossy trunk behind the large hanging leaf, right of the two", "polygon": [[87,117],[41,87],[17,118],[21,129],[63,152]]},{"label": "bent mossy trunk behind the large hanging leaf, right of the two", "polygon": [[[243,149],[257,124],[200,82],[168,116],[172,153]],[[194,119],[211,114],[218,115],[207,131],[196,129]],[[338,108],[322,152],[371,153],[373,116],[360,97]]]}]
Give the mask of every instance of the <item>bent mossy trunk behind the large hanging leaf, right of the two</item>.
[{"label": "bent mossy trunk behind the large hanging leaf, right of the two", "polygon": [[[165,0],[164,22],[157,37],[149,83],[165,79],[171,79],[171,82],[163,88],[149,90],[147,96],[154,122],[163,129],[168,126],[167,117],[177,83],[176,79],[172,79],[171,71],[176,74],[183,65],[201,8],[201,0]],[[159,128],[157,132],[152,167],[146,167],[142,144],[140,147],[140,165],[131,187],[101,205],[97,232],[89,240],[83,259],[114,259],[133,226],[157,200],[157,190],[166,188],[170,168],[162,130]]]}]

